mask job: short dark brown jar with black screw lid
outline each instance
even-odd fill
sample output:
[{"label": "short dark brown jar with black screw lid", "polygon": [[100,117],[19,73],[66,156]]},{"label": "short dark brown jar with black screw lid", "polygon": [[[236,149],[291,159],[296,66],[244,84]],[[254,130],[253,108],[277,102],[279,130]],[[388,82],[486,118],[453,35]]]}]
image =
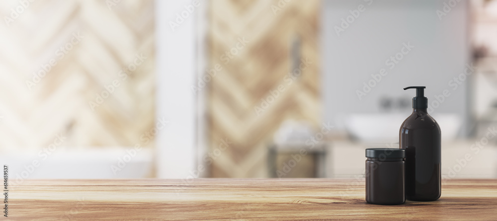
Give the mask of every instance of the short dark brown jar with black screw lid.
[{"label": "short dark brown jar with black screw lid", "polygon": [[406,202],[404,192],[404,159],[398,148],[366,149],[366,202],[397,205]]}]

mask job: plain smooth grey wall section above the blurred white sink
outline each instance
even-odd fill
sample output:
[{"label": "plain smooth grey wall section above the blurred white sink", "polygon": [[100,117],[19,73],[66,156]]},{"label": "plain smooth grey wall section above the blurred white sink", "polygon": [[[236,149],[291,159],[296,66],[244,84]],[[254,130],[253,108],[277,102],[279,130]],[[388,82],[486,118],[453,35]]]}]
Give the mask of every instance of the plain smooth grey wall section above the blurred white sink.
[{"label": "plain smooth grey wall section above the blurred white sink", "polygon": [[[453,77],[463,72],[469,62],[468,3],[460,1],[440,20],[443,0],[347,0],[323,1],[323,84],[324,120],[336,128],[344,128],[350,114],[381,112],[380,99],[405,99],[409,107],[400,111],[405,117],[412,112],[411,99],[415,90],[407,86],[426,86],[428,102],[434,95],[448,89],[450,96],[432,113],[452,113],[467,123],[467,79],[457,89],[449,85]],[[348,28],[338,36],[342,18],[350,10],[360,12]],[[401,51],[403,43],[414,45],[392,70],[385,65],[390,56]],[[356,90],[385,68],[388,74],[359,100]],[[402,122],[398,122],[400,127]],[[381,126],[381,125],[380,125]],[[463,124],[463,129],[467,124]],[[396,128],[398,134],[398,128]],[[442,127],[443,131],[443,127]],[[461,131],[465,134],[465,131]]]}]

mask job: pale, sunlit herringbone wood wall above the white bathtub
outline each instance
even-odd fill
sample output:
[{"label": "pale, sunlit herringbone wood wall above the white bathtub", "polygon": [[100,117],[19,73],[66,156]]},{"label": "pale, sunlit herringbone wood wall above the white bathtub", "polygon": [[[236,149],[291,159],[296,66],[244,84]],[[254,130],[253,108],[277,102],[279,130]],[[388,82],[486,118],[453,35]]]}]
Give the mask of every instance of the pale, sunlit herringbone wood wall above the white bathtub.
[{"label": "pale, sunlit herringbone wood wall above the white bathtub", "polygon": [[57,134],[68,147],[142,144],[155,121],[153,0],[2,0],[0,15],[1,149]]}]

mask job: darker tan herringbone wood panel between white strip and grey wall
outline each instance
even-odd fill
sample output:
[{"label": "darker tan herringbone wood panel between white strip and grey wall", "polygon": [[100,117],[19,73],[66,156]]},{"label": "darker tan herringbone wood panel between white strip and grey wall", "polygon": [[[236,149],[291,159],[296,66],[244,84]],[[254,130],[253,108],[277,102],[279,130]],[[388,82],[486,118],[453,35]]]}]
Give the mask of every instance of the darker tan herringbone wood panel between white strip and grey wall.
[{"label": "darker tan herringbone wood panel between white strip and grey wall", "polygon": [[[208,87],[210,151],[223,139],[231,142],[212,161],[210,176],[266,177],[267,146],[280,124],[317,125],[321,116],[319,0],[209,2],[208,65],[222,67]],[[300,59],[292,58],[295,39]],[[289,78],[301,60],[305,70]],[[261,99],[268,105],[261,107]]]}]

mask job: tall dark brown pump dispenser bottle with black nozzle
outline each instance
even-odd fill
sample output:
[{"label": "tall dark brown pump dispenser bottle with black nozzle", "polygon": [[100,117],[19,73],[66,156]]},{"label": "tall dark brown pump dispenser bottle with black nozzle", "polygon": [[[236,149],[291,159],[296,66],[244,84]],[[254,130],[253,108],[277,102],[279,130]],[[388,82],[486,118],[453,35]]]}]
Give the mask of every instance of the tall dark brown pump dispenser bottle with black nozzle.
[{"label": "tall dark brown pump dispenser bottle with black nozzle", "polygon": [[413,114],[401,125],[400,148],[406,151],[406,199],[433,201],[441,190],[441,132],[438,123],[427,113],[428,98],[424,86],[415,88]]}]

